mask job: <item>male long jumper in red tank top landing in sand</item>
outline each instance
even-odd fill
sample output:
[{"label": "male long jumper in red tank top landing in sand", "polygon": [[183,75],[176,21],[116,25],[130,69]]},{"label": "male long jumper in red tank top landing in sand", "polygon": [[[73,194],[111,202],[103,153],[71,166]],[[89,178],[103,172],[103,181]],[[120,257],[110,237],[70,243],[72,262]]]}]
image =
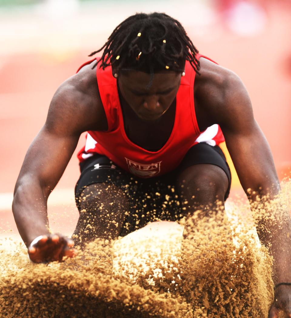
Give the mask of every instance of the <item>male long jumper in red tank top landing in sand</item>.
[{"label": "male long jumper in red tank top landing in sand", "polygon": [[[124,236],[201,207],[208,217],[205,207],[229,194],[231,174],[218,146],[224,140],[250,200],[248,189],[271,197],[279,192],[245,86],[198,54],[177,20],[133,15],[90,56],[103,49],[54,94],[16,183],[14,218],[33,262],[60,261],[74,256],[74,244]],[[83,132],[75,188],[80,218],[70,239],[49,232],[46,202]],[[290,218],[280,226],[261,223],[260,240],[274,257],[269,317],[279,310],[291,317]]]}]

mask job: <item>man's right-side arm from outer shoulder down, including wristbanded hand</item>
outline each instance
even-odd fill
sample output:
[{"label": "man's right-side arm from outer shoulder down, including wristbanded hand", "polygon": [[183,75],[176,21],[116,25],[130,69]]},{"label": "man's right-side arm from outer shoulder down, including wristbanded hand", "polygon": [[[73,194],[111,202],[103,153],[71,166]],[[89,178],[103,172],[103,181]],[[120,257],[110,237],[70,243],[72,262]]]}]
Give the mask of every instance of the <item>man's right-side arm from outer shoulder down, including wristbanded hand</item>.
[{"label": "man's right-side arm from outer shoulder down, including wristbanded hand", "polygon": [[[256,195],[270,199],[280,191],[270,147],[253,117],[250,98],[241,80],[228,73],[224,84],[224,102],[218,115],[225,142],[239,181],[250,201]],[[250,192],[250,189],[252,190]],[[255,193],[255,194],[254,194]],[[274,284],[291,283],[291,221],[289,211],[273,211],[273,220],[262,215],[257,219],[260,241],[270,246],[274,258]],[[279,286],[269,317],[277,317],[282,309],[291,317],[291,286]]]}]

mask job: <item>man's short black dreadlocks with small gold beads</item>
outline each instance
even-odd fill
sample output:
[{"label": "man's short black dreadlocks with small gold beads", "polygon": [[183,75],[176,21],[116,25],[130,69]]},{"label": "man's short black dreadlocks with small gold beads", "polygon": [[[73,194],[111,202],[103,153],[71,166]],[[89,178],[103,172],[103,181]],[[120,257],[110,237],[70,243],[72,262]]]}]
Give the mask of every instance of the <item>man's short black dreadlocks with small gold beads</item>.
[{"label": "man's short black dreadlocks with small gold beads", "polygon": [[119,24],[108,41],[92,56],[104,48],[100,63],[103,70],[138,70],[154,72],[183,72],[186,60],[199,74],[198,53],[181,23],[165,13],[136,13]]}]

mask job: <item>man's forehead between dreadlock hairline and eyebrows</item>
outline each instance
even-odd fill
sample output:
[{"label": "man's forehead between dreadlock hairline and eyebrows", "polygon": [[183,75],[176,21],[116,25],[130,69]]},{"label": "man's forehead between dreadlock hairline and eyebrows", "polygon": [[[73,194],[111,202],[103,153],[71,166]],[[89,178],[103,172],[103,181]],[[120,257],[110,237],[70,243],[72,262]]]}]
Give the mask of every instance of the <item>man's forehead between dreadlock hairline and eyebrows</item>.
[{"label": "man's forehead between dreadlock hairline and eyebrows", "polygon": [[179,84],[180,76],[176,72],[153,73],[152,83],[151,74],[141,71],[122,71],[120,80],[122,84],[138,90],[151,90],[153,88],[167,89]]}]

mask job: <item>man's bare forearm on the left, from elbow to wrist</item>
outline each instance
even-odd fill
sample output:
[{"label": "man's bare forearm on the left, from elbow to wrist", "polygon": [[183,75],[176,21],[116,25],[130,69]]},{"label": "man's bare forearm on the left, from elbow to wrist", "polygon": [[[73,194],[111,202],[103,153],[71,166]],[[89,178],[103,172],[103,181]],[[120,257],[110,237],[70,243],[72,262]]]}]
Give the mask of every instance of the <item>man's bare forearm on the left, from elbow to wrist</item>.
[{"label": "man's bare forearm on the left, from elbow to wrist", "polygon": [[12,211],[21,238],[26,246],[39,235],[49,233],[47,197],[37,180],[17,182]]}]

